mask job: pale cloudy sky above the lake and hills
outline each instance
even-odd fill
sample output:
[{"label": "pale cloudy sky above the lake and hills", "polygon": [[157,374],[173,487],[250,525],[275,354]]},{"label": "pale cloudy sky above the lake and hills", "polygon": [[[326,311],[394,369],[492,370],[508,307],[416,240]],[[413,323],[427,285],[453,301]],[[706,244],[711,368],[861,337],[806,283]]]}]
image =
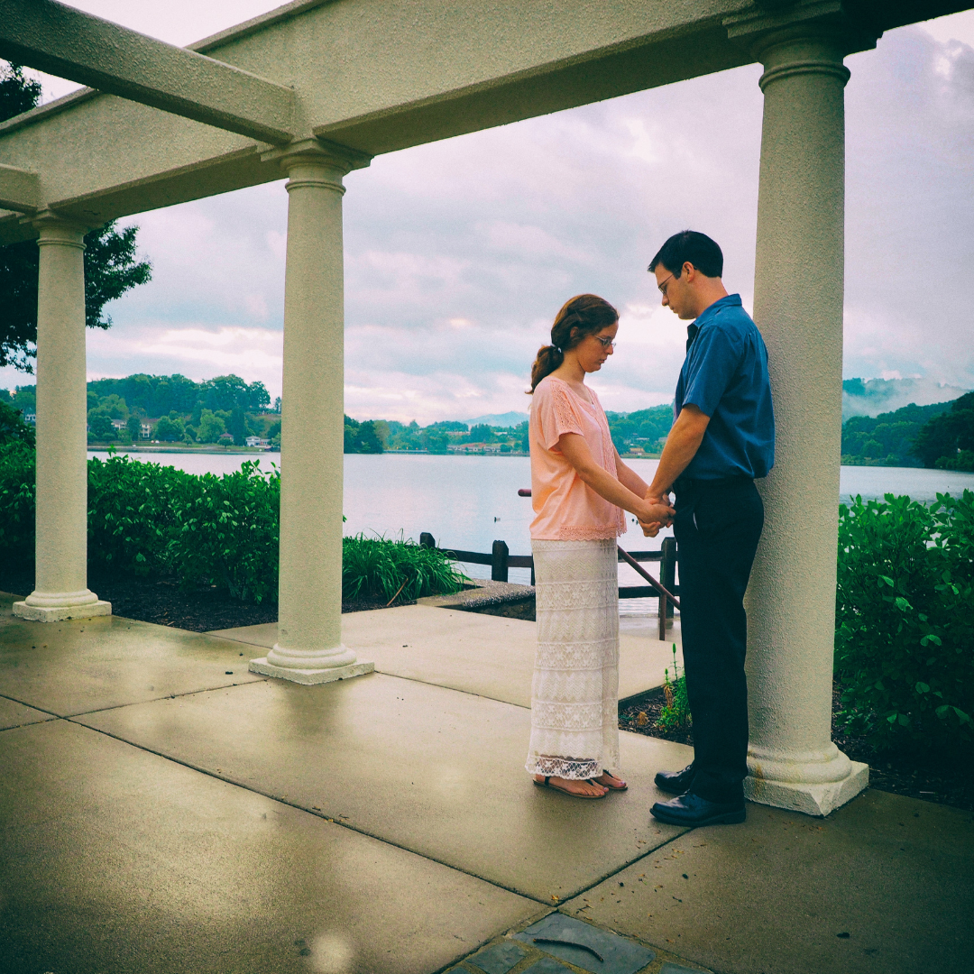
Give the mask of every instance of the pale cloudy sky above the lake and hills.
[{"label": "pale cloudy sky above the lake and hills", "polygon": [[[187,44],[268,0],[84,0]],[[974,389],[974,12],[891,31],[846,58],[846,378]],[[619,310],[591,378],[607,409],[669,402],[685,325],[646,267],[693,228],[725,252],[750,309],[761,143],[759,65],[474,132],[346,177],[346,412],[469,419],[526,410],[558,308]],[[77,86],[41,76],[44,100]],[[283,181],[137,214],[153,281],[89,330],[89,378],[234,372],[281,394]],[[32,382],[0,370],[0,388]]]}]

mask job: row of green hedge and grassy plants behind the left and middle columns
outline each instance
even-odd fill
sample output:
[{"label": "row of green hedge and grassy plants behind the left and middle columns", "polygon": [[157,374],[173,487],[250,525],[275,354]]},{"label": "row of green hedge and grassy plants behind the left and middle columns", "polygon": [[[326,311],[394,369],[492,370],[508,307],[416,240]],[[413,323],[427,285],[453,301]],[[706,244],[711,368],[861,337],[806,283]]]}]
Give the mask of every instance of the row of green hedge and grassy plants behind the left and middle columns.
[{"label": "row of green hedge and grassy plants behind the left and middle columns", "polygon": [[[0,446],[0,557],[34,559],[34,451]],[[88,462],[88,558],[95,571],[175,576],[216,585],[244,602],[276,602],[281,476],[256,461],[216,476],[128,456]],[[441,552],[405,541],[346,538],[345,599],[418,598],[459,590]]]}]

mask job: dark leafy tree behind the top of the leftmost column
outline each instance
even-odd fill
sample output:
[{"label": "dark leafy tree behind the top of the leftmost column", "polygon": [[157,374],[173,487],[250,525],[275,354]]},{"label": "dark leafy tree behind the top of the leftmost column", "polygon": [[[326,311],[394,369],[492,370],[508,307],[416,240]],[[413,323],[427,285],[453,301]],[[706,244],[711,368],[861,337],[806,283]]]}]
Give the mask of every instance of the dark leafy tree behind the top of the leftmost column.
[{"label": "dark leafy tree behind the top of the leftmost column", "polygon": [[[33,108],[41,86],[23,76],[18,65],[0,66],[0,122]],[[136,261],[137,227],[116,232],[115,221],[85,235],[85,323],[111,327],[104,306],[152,277],[148,261]],[[33,372],[30,359],[37,343],[37,269],[33,241],[0,247],[0,366]]]}]

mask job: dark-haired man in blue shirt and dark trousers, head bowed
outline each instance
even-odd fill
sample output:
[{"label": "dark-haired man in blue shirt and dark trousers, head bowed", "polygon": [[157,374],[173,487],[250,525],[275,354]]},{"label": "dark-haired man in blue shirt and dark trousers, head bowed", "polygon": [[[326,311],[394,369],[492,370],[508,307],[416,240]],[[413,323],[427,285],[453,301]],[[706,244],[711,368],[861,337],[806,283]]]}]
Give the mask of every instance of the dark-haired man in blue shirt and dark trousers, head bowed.
[{"label": "dark-haired man in blue shirt and dark trousers, head bowed", "polygon": [[724,255],[687,230],[650,264],[662,303],[687,328],[676,419],[647,497],[676,492],[684,672],[693,713],[693,764],[660,771],[680,797],[653,805],[672,825],[743,822],[747,775],[747,618],[744,591],[764,526],[756,477],[774,462],[768,352],[740,296],[721,277]]}]

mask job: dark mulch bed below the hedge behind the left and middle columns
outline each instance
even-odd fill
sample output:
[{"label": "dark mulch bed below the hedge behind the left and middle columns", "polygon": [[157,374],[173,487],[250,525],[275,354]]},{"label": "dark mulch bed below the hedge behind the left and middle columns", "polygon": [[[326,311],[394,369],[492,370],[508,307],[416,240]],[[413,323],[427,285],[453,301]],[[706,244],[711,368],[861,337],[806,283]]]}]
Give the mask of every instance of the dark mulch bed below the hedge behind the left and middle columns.
[{"label": "dark mulch bed below the hedge behind the left and middle columns", "polygon": [[[278,621],[276,603],[246,605],[215,588],[184,592],[173,579],[119,579],[93,575],[88,583],[92,591],[97,592],[98,598],[111,602],[113,615],[137,618],[156,625],[209,632],[212,629],[233,629]],[[33,588],[33,570],[0,570],[0,590],[25,594]],[[393,603],[393,607],[402,605],[415,605],[415,601],[399,599]],[[356,599],[342,603],[343,613],[385,608],[386,601],[383,599]]]}]

